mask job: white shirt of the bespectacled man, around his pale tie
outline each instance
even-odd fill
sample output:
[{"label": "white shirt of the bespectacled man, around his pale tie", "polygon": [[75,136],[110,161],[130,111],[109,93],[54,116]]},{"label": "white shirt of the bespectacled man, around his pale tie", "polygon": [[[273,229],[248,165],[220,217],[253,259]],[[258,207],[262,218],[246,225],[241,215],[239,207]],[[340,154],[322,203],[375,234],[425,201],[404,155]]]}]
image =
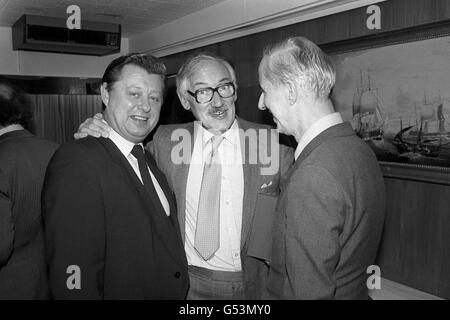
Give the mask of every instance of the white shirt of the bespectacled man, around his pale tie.
[{"label": "white shirt of the bespectacled man, around his pale tie", "polygon": [[222,179],[217,181],[221,184],[220,246],[215,255],[205,261],[194,248],[194,243],[203,167],[208,153],[211,151],[211,143],[208,141],[213,134],[204,129],[198,121],[194,125],[197,134],[186,185],[185,250],[188,264],[212,270],[241,271],[240,243],[244,173],[239,127],[235,120],[231,128],[223,134],[224,139],[218,148],[219,161],[222,164]]}]

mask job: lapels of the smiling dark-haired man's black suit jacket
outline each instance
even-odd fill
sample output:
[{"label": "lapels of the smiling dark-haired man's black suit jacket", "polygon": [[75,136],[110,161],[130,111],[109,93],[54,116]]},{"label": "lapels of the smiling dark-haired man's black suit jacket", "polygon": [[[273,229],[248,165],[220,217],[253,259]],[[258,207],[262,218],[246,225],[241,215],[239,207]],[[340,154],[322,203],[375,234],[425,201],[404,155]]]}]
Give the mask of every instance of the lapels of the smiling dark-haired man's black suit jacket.
[{"label": "lapels of the smiling dark-haired man's black suit jacket", "polygon": [[[158,195],[148,194],[147,190],[144,188],[141,181],[136,176],[136,173],[134,172],[128,160],[110,139],[99,138],[98,140],[105,147],[113,163],[116,165],[116,172],[120,172],[120,174],[124,176],[124,181],[127,181],[128,184],[132,186],[132,188],[135,190],[135,192],[137,192],[139,198],[141,199],[141,203],[144,204],[145,215],[148,218],[150,225],[152,226],[151,232],[154,232],[160,238],[161,243],[166,247],[167,252],[174,258],[174,260],[180,263],[180,265],[183,265],[182,257],[184,257],[184,251],[181,252],[183,247],[177,244],[177,241],[179,241],[179,235],[177,234],[176,228],[174,228],[171,219],[165,214],[165,211],[160,204]],[[149,160],[148,152],[146,152],[146,155],[147,159]],[[152,159],[153,158],[151,158],[150,161]],[[154,170],[153,168],[152,172],[160,183],[160,186],[163,189],[170,204],[171,215],[176,214],[173,195],[167,192],[167,184],[165,183],[165,181],[160,179],[162,174],[159,170]],[[171,233],[177,234],[178,237],[170,236]]]}]

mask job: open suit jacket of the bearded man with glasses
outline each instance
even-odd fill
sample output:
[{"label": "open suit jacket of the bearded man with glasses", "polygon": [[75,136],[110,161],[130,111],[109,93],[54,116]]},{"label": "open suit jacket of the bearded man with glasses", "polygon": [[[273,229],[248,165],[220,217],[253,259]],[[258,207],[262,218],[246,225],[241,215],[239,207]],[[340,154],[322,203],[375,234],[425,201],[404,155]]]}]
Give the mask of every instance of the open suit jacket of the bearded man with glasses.
[{"label": "open suit jacket of the bearded man with glasses", "polygon": [[[271,230],[275,204],[279,194],[279,183],[283,173],[286,174],[288,168],[293,163],[293,150],[284,145],[278,144],[278,135],[272,133],[264,136],[269,129],[267,125],[257,124],[238,118],[239,128],[243,130],[255,129],[257,135],[247,135],[244,143],[244,136],[241,135],[241,146],[244,159],[244,197],[242,211],[241,229],[241,261],[244,272],[244,290],[246,299],[260,299],[262,290],[265,288],[265,281],[268,274],[268,260],[271,248]],[[178,205],[178,220],[180,230],[185,239],[185,211],[186,211],[186,185],[189,173],[189,163],[174,164],[171,154],[175,146],[182,141],[177,134],[172,138],[172,134],[182,132],[188,133],[190,141],[183,143],[190,144],[193,150],[195,142],[194,123],[184,123],[175,125],[160,126],[156,131],[153,141],[147,146],[155,154],[159,168],[164,172],[170,187],[175,192]],[[267,137],[264,139],[264,137]],[[261,155],[270,155],[271,144],[275,142],[279,147],[279,152],[274,150],[278,166],[273,172],[261,171],[262,168],[269,168],[265,163],[267,159],[262,159]],[[245,147],[244,147],[245,146]],[[190,159],[190,157],[189,157]],[[256,161],[254,161],[256,159]],[[265,188],[265,186],[268,186]]]}]

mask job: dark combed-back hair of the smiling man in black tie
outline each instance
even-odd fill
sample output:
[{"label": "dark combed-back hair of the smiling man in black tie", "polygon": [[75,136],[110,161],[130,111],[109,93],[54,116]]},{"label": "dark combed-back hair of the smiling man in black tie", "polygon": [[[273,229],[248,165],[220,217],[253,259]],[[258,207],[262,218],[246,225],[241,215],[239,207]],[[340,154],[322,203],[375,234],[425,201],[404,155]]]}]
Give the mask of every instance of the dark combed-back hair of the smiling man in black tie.
[{"label": "dark combed-back hair of the smiling man in black tie", "polygon": [[141,67],[149,74],[158,74],[165,80],[166,66],[162,60],[145,53],[130,53],[111,61],[102,77],[102,83],[106,82],[106,89],[111,90],[114,82],[119,80],[120,73],[127,64]]}]

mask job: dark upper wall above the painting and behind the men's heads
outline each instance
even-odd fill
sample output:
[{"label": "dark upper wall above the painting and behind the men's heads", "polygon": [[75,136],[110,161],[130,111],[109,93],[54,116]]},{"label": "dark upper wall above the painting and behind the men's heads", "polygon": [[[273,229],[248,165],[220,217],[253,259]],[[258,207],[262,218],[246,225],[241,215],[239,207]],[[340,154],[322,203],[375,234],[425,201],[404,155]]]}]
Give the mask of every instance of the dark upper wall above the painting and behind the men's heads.
[{"label": "dark upper wall above the painting and behind the men's heads", "polygon": [[[163,57],[163,60],[166,62],[168,74],[174,75],[184,59],[194,52],[209,51],[227,58],[236,69],[239,85],[237,114],[250,121],[272,123],[268,112],[257,109],[260,93],[257,70],[267,45],[289,36],[305,36],[328,52],[335,47],[328,44],[349,39],[356,42],[360,39],[363,42],[370,36],[450,19],[449,0],[388,0],[378,5],[381,9],[381,30],[367,29],[366,20],[369,15],[366,13],[367,7],[362,7],[169,55]],[[175,97],[169,96],[168,100],[171,101],[170,107],[183,113]],[[171,120],[163,118],[162,121]]]}]

